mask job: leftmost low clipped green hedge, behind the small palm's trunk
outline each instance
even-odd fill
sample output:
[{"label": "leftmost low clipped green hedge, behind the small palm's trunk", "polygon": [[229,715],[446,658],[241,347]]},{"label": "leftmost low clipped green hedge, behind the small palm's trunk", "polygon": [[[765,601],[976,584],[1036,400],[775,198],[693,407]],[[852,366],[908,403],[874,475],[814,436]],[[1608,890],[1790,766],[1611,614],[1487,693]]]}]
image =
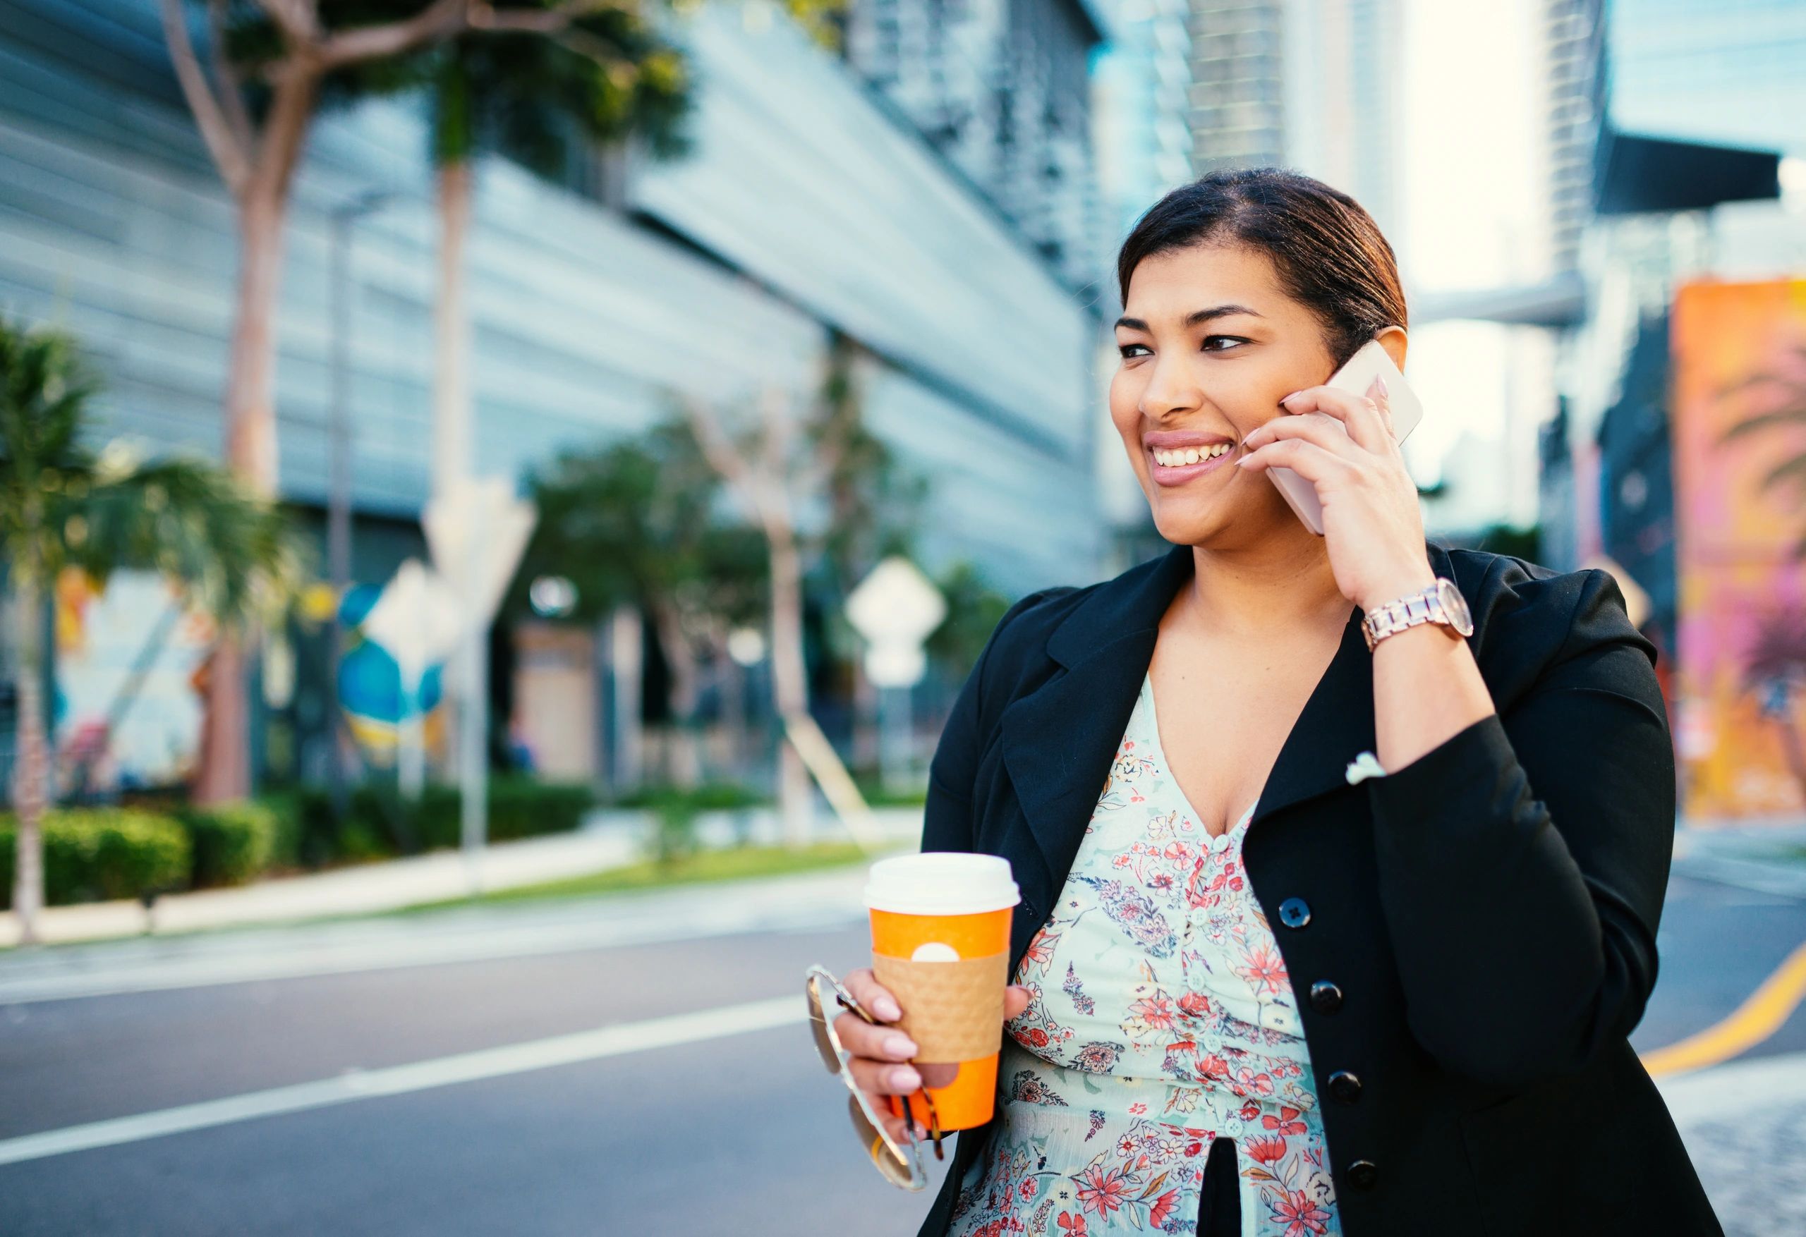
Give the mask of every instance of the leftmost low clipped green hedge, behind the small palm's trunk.
[{"label": "leftmost low clipped green hedge, behind the small palm's trunk", "polygon": [[[0,908],[13,905],[16,847],[16,822],[4,816]],[[121,807],[43,816],[43,892],[52,907],[182,888],[188,870],[188,832],[168,816]]]}]

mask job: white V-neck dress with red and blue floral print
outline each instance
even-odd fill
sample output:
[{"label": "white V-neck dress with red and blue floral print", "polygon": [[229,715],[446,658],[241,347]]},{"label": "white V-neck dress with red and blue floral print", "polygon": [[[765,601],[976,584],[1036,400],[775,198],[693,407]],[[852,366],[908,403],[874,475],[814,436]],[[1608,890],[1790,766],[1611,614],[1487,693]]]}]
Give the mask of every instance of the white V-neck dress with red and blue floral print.
[{"label": "white V-neck dress with red and blue floral print", "polygon": [[1029,1006],[1008,1024],[999,1121],[952,1237],[1194,1237],[1217,1138],[1235,1145],[1239,1237],[1340,1235],[1297,1002],[1243,874],[1252,818],[1217,838],[1197,823],[1143,679],[1017,968]]}]

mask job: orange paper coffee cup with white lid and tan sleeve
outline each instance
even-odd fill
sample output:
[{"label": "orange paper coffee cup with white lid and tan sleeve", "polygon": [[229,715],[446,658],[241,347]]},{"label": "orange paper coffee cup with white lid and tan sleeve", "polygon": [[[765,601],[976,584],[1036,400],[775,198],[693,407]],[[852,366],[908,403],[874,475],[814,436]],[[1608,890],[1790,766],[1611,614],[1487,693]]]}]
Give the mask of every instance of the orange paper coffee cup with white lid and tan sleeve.
[{"label": "orange paper coffee cup with white lid and tan sleeve", "polygon": [[[872,863],[872,972],[903,1008],[916,1069],[943,1130],[991,1120],[1010,982],[1011,908],[1022,899],[1010,860],[926,851]],[[928,1105],[908,1098],[928,1127]],[[890,1111],[903,1102],[890,1098]]]}]

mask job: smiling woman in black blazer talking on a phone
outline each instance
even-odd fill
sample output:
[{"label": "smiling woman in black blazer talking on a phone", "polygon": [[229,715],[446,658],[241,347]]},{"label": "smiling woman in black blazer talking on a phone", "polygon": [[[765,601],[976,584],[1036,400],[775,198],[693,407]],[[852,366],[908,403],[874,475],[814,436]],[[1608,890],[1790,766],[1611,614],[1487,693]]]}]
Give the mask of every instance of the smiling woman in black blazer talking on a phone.
[{"label": "smiling woman in black blazer talking on a phone", "polygon": [[[1385,390],[1320,385],[1405,363],[1344,193],[1212,173],[1118,280],[1111,419],[1174,549],[1017,603],[936,751],[923,849],[1022,903],[997,1116],[923,1237],[1719,1233],[1625,1040],[1674,762],[1616,585],[1425,544]],[[836,1029],[867,1093],[921,1084]]]}]

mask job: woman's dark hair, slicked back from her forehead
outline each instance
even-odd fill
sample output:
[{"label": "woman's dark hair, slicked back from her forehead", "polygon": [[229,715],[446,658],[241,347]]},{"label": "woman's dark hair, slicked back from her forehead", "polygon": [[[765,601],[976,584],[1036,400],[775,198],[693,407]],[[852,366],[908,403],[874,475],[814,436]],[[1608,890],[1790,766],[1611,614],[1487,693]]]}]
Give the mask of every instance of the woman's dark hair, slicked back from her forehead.
[{"label": "woman's dark hair, slicked back from her forehead", "polygon": [[1116,280],[1141,258],[1201,244],[1259,249],[1280,287],[1311,309],[1336,365],[1387,327],[1405,323],[1392,246],[1360,202],[1286,168],[1232,168],[1181,184],[1136,220],[1116,255]]}]

